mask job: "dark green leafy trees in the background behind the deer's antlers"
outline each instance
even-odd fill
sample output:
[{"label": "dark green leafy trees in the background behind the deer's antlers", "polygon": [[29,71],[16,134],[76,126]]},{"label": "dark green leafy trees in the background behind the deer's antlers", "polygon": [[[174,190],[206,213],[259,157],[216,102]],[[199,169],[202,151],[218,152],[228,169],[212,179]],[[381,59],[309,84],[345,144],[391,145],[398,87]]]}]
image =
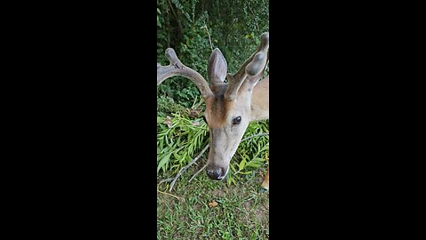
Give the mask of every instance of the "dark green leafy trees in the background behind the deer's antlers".
[{"label": "dark green leafy trees in the background behind the deer's antlers", "polygon": [[[268,0],[157,0],[157,62],[169,65],[164,52],[171,47],[207,81],[212,48],[220,49],[228,72],[235,73],[268,31]],[[191,81],[178,76],[157,87],[157,97],[170,96],[186,108],[199,94]]]}]

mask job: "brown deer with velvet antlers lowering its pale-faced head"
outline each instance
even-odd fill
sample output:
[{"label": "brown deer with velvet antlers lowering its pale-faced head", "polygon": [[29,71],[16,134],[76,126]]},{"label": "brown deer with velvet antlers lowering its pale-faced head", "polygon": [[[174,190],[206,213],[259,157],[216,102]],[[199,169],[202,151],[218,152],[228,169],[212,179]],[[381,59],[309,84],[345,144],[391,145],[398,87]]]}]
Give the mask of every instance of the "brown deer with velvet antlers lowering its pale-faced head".
[{"label": "brown deer with velvet antlers lowering its pale-faced head", "polygon": [[[184,76],[198,87],[209,126],[206,172],[211,180],[223,180],[248,124],[269,119],[269,72],[264,76],[269,61],[269,33],[262,34],[256,52],[234,75],[227,72],[225,57],[215,48],[207,66],[209,83],[186,67],[173,48],[166,49],[165,55],[170,64],[162,66],[157,62],[157,86],[172,76]],[[269,164],[261,188],[269,190]]]}]

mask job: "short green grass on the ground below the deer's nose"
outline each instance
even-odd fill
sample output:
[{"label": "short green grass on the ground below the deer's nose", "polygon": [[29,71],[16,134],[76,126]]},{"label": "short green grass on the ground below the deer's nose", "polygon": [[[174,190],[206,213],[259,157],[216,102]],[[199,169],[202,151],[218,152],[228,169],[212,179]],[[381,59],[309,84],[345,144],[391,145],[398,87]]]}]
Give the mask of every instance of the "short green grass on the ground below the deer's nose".
[{"label": "short green grass on the ground below the deer's nose", "polygon": [[[209,180],[200,159],[177,180],[171,194],[157,192],[157,239],[269,239],[269,192],[260,192],[265,168],[233,176],[236,184]],[[167,184],[159,186],[165,191]],[[216,201],[215,207],[209,203]]]}]

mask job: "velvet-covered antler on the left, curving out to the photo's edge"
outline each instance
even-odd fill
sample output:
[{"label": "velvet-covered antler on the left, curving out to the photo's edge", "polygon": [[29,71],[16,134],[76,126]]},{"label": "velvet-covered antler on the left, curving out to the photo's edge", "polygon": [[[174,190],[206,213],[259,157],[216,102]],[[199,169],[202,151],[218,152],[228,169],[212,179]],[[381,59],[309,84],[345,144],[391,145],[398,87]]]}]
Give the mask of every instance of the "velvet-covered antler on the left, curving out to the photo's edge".
[{"label": "velvet-covered antler on the left, curving out to the photo's edge", "polygon": [[161,84],[162,81],[166,80],[171,76],[185,76],[197,85],[204,98],[209,97],[213,94],[209,88],[209,84],[206,79],[202,77],[198,72],[192,68],[186,67],[176,55],[176,52],[172,48],[166,49],[166,57],[170,60],[169,66],[162,66],[157,62],[157,85]]}]

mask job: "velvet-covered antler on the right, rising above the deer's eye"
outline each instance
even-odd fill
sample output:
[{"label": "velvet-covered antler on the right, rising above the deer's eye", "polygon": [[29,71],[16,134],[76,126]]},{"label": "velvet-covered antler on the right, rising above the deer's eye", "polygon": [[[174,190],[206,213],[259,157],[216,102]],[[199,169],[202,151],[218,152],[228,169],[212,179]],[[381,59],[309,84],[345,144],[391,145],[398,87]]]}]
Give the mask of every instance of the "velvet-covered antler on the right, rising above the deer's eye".
[{"label": "velvet-covered antler on the right, rising above the deer's eye", "polygon": [[266,32],[262,34],[260,45],[257,47],[256,52],[254,52],[248,60],[244,61],[240,70],[238,70],[234,76],[230,74],[227,75],[229,84],[225,92],[226,99],[234,100],[237,97],[237,92],[246,78],[249,78],[250,81],[260,79],[269,59],[268,49],[269,33]]}]

